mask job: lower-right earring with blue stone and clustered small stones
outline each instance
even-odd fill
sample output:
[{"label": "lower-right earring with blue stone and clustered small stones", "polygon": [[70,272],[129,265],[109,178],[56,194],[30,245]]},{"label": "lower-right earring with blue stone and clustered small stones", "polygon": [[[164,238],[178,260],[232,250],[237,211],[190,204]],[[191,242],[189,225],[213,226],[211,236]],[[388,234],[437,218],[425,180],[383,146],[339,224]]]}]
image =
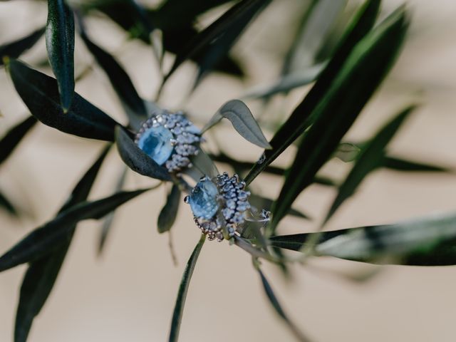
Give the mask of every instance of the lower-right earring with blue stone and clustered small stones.
[{"label": "lower-right earring with blue stone and clustered small stones", "polygon": [[202,177],[185,202],[190,204],[195,223],[207,234],[209,240],[224,239],[223,229],[229,237],[244,224],[249,204],[250,192],[245,190],[245,182],[235,174],[227,172],[210,179]]}]

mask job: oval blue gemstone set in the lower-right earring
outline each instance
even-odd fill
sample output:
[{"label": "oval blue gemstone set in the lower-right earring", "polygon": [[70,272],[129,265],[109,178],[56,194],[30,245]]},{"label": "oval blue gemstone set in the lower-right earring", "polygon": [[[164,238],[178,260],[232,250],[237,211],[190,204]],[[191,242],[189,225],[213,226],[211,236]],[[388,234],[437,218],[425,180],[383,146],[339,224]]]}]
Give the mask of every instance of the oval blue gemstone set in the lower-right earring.
[{"label": "oval blue gemstone set in the lower-right earring", "polygon": [[190,207],[199,219],[211,219],[219,209],[217,186],[210,180],[202,180],[193,188],[190,195]]}]

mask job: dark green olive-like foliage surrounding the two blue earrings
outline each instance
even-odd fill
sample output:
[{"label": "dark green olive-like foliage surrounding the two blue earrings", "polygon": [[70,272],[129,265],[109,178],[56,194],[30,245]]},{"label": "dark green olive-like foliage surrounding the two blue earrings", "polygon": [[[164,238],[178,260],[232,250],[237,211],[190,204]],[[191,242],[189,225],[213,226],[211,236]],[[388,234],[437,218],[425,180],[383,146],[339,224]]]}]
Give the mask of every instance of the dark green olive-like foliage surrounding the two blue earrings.
[{"label": "dark green olive-like foliage surrounding the two blue earrings", "polygon": [[[43,26],[24,38],[0,46],[0,66],[6,67],[17,94],[32,115],[11,128],[0,140],[0,164],[14,152],[37,121],[81,138],[113,142],[117,147],[119,160],[129,168],[125,170],[133,170],[142,176],[160,180],[157,187],[170,183],[166,202],[157,217],[157,231],[170,232],[175,223],[182,193],[189,193],[194,183],[187,181],[180,173],[172,174],[163,165],[158,165],[138,147],[135,135],[151,112],[161,110],[160,91],[170,76],[179,72],[183,63],[197,63],[198,72],[193,88],[199,85],[203,76],[214,71],[242,76],[242,68],[228,53],[249,24],[274,1],[240,0],[234,4],[224,0],[191,2],[190,6],[187,1],[167,0],[160,6],[147,8],[133,0],[81,3],[48,0],[46,28]],[[187,170],[193,180],[198,180],[203,175],[217,175],[217,165],[219,170],[223,170],[222,165],[234,168],[239,175],[245,176],[247,185],[257,180],[257,177],[261,179],[261,175],[266,173],[283,180],[283,186],[275,199],[258,194],[252,194],[250,198],[252,206],[271,210],[270,221],[266,218],[262,225],[248,224],[239,234],[232,237],[224,234],[224,237],[229,239],[233,246],[252,255],[254,270],[259,273],[266,299],[299,341],[309,339],[285,313],[261,269],[261,259],[281,266],[284,271],[289,262],[327,256],[374,264],[456,264],[454,213],[398,224],[339,229],[333,232],[278,234],[281,219],[286,215],[307,220],[315,216],[314,213],[304,214],[292,207],[296,198],[310,185],[326,185],[336,188],[338,192],[323,223],[318,226],[323,229],[324,224],[343,203],[356,193],[361,182],[380,167],[400,172],[451,171],[447,167],[403,160],[388,153],[388,143],[400,133],[405,119],[415,108],[414,104],[400,110],[393,120],[386,123],[370,140],[358,143],[345,140],[346,133],[358,116],[362,115],[363,108],[394,65],[409,26],[408,9],[405,6],[400,6],[383,21],[378,22],[380,0],[366,0],[343,27],[343,32],[338,34],[338,43],[331,46],[331,40],[326,37],[330,33],[331,22],[323,21],[328,13],[331,14],[331,20],[336,21],[345,2],[311,1],[311,5],[306,8],[296,40],[284,58],[281,78],[272,86],[262,86],[261,91],[257,89],[248,94],[247,97],[261,98],[267,104],[267,100],[276,95],[313,83],[304,99],[281,123],[269,142],[261,131],[262,122],[257,122],[252,111],[241,100],[227,99],[204,125],[202,133],[211,130],[215,134],[215,125],[227,118],[239,135],[264,149],[257,162],[232,157],[236,155],[236,151],[229,150],[228,144],[221,146],[219,152],[214,154],[199,150],[199,154],[192,159],[193,167]],[[219,5],[227,5],[227,11],[212,24],[198,31],[194,25],[197,18]],[[99,18],[100,13],[123,28],[131,39],[147,44],[155,54],[163,78],[157,90],[157,98],[153,102],[140,97],[118,58],[90,38],[95,37],[96,32],[90,32],[86,28],[85,20]],[[28,66],[16,59],[38,43],[43,33],[46,33],[48,60],[55,78],[38,71],[37,66]],[[121,125],[108,113],[75,93],[76,33],[108,76],[123,105],[128,124]],[[314,50],[311,49],[312,44],[317,45],[313,46]],[[76,50],[78,48],[76,44]],[[306,48],[309,48],[309,51]],[[307,56],[300,55],[303,49]],[[326,53],[323,53],[324,51]],[[170,69],[165,71],[162,58],[164,54],[170,53],[175,55],[175,61]],[[308,64],[302,66],[299,58],[304,58]],[[205,137],[209,139],[207,134]],[[274,165],[277,157],[286,150],[291,150],[292,145],[296,145],[296,152],[289,167]],[[114,210],[151,190],[122,191],[126,175],[123,172],[113,195],[88,202],[90,189],[110,146],[109,143],[81,177],[56,217],[34,229],[0,257],[0,271],[28,264],[16,312],[15,342],[27,340],[33,319],[40,313],[51,294],[78,222],[109,215],[100,237],[101,251]],[[319,174],[321,168],[336,157],[351,165],[351,171],[342,182]],[[1,193],[0,206],[11,214],[20,214],[14,204]],[[179,336],[185,298],[205,238],[202,234],[182,276],[172,315],[169,341],[177,341]],[[301,254],[289,256],[284,253],[285,249]]]}]

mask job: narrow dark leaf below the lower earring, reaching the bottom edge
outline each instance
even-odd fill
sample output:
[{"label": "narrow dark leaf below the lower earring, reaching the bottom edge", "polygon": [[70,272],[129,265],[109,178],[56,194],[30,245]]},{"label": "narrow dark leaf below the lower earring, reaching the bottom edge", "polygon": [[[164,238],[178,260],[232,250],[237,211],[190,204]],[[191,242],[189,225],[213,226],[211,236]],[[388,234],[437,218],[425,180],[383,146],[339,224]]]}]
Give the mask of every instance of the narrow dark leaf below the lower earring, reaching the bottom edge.
[{"label": "narrow dark leaf below the lower earring, reaching the bottom edge", "polygon": [[177,342],[177,339],[179,338],[180,322],[182,321],[182,314],[184,312],[185,299],[187,299],[188,287],[190,286],[190,280],[192,279],[199,252],[201,252],[205,239],[206,235],[202,234],[199,242],[192,252],[192,255],[190,255],[190,259],[187,261],[187,266],[185,266],[184,274],[182,275],[182,281],[180,282],[179,286],[179,291],[177,292],[176,304],[172,313],[170,338],[168,339],[170,342]]}]

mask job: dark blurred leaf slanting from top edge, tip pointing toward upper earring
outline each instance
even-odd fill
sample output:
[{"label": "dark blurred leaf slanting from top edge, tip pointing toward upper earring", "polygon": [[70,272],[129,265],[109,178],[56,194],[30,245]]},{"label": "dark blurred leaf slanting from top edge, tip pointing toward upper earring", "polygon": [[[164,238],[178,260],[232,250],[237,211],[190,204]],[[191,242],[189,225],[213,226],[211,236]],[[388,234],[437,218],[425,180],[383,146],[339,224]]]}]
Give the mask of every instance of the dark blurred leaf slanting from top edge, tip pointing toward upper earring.
[{"label": "dark blurred leaf slanting from top edge, tip pointing toward upper earring", "polygon": [[[207,48],[210,44],[217,43],[217,41],[224,35],[229,34],[230,30],[236,29],[237,18],[244,18],[244,14],[251,13],[251,10],[257,8],[260,3],[264,3],[269,0],[242,0],[238,4],[232,6],[231,9],[226,11],[222,16],[219,17],[214,23],[204,28],[203,31],[199,32],[192,41],[187,43],[187,46],[182,49],[180,54],[175,58],[175,62],[172,65],[170,71],[165,76],[165,81],[169,78],[172,73],[188,58],[196,56],[200,51]],[[261,8],[261,7],[260,7]],[[257,9],[257,11],[259,8]],[[255,12],[256,13],[256,12]],[[252,14],[252,16],[254,13]],[[245,19],[244,19],[245,20]],[[239,32],[240,33],[240,32]],[[207,52],[207,51],[206,51]]]}]

